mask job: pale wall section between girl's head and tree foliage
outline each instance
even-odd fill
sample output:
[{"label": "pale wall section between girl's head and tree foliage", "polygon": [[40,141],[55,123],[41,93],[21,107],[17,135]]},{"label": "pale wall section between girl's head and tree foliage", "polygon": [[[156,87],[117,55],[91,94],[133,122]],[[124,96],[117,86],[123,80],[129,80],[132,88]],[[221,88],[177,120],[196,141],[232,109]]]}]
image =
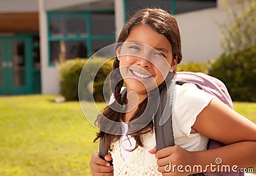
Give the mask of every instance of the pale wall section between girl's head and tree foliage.
[{"label": "pale wall section between girl's head and tree foliage", "polygon": [[225,22],[223,8],[212,8],[175,16],[180,28],[183,62],[205,62],[223,53],[219,24]]}]

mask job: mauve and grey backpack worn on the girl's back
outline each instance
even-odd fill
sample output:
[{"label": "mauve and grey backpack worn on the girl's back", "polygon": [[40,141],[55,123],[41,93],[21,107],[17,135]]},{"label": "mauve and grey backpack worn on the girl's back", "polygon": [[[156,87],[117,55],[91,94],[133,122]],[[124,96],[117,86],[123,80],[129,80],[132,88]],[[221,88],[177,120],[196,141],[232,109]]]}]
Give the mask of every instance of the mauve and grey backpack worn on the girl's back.
[{"label": "mauve and grey backpack worn on the girl's back", "polygon": [[[222,83],[219,79],[215,77],[208,76],[203,73],[194,73],[194,72],[176,72],[176,76],[174,81],[167,85],[168,93],[161,93],[162,96],[168,96],[167,99],[165,97],[161,97],[160,99],[163,100],[163,103],[159,104],[159,110],[157,111],[158,115],[156,114],[154,118],[155,124],[155,134],[156,134],[156,145],[157,150],[160,150],[165,147],[170,147],[174,145],[173,139],[173,131],[172,131],[172,100],[173,100],[173,91],[175,84],[184,84],[184,83],[193,83],[198,88],[204,90],[215,97],[218,97],[222,102],[227,104],[230,108],[234,109],[232,100],[230,95],[228,94],[228,90],[224,83]],[[168,106],[167,114],[170,114],[170,118],[161,122],[161,116],[164,116],[163,109],[165,106]],[[164,109],[166,111],[166,109]],[[167,115],[166,115],[167,116]],[[163,121],[163,120],[162,120]],[[159,125],[160,124],[160,125]],[[223,143],[219,141],[215,141],[209,139],[207,143],[207,150],[212,148],[218,148],[224,146]],[[207,172],[207,173],[196,173],[195,175],[232,175],[232,176],[242,176],[244,173],[239,172]]]}]

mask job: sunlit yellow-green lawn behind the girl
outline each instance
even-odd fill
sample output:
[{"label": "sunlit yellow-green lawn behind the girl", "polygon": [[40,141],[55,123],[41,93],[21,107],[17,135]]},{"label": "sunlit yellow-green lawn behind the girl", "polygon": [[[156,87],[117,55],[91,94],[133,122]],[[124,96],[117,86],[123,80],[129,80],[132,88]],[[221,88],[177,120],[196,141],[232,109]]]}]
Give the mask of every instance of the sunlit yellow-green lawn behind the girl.
[{"label": "sunlit yellow-green lawn behind the girl", "polygon": [[[99,150],[92,142],[97,129],[79,102],[56,103],[56,97],[0,97],[0,175],[90,175],[90,157]],[[256,122],[255,103],[234,105]]]}]

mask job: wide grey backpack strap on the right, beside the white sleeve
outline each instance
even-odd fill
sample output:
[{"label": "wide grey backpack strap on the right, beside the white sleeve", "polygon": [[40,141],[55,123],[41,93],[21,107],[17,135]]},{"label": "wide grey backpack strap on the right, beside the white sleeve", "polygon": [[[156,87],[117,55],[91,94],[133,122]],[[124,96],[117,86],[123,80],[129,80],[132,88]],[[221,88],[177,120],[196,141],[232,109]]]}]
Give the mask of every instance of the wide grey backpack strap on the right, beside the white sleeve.
[{"label": "wide grey backpack strap on the right, beside the white sleeve", "polygon": [[154,117],[157,150],[174,145],[172,103],[175,84],[175,81],[170,81],[160,93],[159,108]]}]

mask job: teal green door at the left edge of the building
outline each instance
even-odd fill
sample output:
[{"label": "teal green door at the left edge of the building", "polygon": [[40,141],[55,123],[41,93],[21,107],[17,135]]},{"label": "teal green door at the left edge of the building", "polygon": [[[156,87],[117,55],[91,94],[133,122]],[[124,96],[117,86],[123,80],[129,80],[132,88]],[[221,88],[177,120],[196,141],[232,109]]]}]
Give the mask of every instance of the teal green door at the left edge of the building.
[{"label": "teal green door at the left edge of the building", "polygon": [[0,37],[0,94],[33,92],[30,36]]}]

